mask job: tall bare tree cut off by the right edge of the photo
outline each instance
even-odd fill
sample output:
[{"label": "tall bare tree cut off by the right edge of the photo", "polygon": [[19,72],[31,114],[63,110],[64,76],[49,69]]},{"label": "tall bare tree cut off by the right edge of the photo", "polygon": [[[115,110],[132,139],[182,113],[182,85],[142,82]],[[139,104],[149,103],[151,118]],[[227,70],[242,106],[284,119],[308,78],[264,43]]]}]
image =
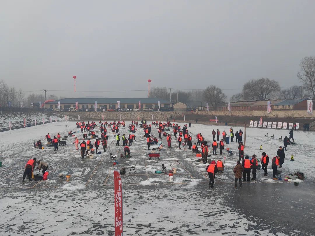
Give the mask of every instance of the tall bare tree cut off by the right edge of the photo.
[{"label": "tall bare tree cut off by the right edge of the photo", "polygon": [[304,89],[315,98],[315,57],[305,57],[300,63],[301,70],[297,77],[303,83]]}]

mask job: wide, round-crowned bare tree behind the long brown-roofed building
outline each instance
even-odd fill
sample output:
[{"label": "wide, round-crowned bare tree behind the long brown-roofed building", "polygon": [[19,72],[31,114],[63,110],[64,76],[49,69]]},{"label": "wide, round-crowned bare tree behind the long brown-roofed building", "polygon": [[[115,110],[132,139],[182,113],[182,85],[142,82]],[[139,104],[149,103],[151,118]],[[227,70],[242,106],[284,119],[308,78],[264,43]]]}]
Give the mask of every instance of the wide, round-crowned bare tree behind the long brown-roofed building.
[{"label": "wide, round-crowned bare tree behind the long brown-roofed building", "polygon": [[279,82],[268,78],[251,80],[243,85],[244,98],[251,100],[266,100],[275,97],[279,90]]}]

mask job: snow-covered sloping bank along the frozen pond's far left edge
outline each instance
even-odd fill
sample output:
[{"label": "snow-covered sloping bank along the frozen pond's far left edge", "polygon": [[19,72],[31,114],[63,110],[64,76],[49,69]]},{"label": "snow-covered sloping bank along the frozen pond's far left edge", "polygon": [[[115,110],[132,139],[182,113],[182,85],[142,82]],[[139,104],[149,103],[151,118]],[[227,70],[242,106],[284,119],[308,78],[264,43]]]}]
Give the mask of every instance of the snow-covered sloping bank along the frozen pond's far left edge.
[{"label": "snow-covered sloping bank along the frozen pond's far left edge", "polygon": [[[66,120],[64,115],[60,114],[52,114],[52,120],[55,121],[55,116],[57,116],[58,121]],[[0,128],[9,127],[9,121],[12,122],[12,127],[20,126],[24,124],[24,118],[26,119],[26,123],[34,123],[35,118],[37,118],[37,122],[42,122],[44,117],[44,121],[50,121],[50,115],[45,115],[43,112],[30,112],[30,113],[18,113],[18,112],[1,112],[0,113]],[[67,120],[71,120],[72,117],[67,117]]]}]

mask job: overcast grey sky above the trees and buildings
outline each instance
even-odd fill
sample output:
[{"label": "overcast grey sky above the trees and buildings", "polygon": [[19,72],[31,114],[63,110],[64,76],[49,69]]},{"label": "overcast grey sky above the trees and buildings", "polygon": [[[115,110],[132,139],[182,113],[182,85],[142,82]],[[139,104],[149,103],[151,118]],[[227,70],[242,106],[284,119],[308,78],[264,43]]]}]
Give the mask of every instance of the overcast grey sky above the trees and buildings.
[{"label": "overcast grey sky above the trees and buildings", "polygon": [[[315,1],[1,1],[0,79],[24,91],[299,84]],[[225,90],[228,95],[238,90]],[[147,92],[65,93],[142,97]]]}]

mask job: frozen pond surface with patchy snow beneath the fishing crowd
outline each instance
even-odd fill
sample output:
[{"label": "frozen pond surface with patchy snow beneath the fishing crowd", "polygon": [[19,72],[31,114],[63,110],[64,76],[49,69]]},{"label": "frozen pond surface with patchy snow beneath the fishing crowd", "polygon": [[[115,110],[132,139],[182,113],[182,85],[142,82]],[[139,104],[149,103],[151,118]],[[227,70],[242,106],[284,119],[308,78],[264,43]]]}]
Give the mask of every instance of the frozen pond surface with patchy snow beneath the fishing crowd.
[{"label": "frozen pond surface with patchy snow beneath the fishing crowd", "polygon": [[[129,124],[129,122],[127,122]],[[289,174],[295,170],[304,172],[306,180],[298,186],[292,182],[273,181],[271,166],[268,178],[257,171],[257,181],[243,183],[242,189],[234,189],[232,172],[238,155],[227,157],[224,173],[218,173],[215,188],[208,188],[206,165],[195,162],[195,155],[185,147],[161,151],[161,160],[147,160],[147,145],[143,131],[136,132],[136,142],[130,147],[132,158],[120,160],[112,166],[109,153],[120,156],[122,146],[115,146],[114,136],[109,134],[106,153],[94,155],[92,160],[80,160],[79,151],[69,138],[59,151],[53,148],[34,149],[33,140],[45,140],[49,132],[66,135],[75,131],[74,122],[0,133],[4,148],[0,156],[1,235],[114,235],[113,170],[137,164],[137,174],[122,175],[124,194],[125,235],[313,235],[314,228],[314,146],[313,132],[294,132],[298,143],[288,146],[286,160],[281,169]],[[183,125],[183,124],[182,124]],[[128,126],[128,125],[127,125]],[[228,130],[227,126],[192,124],[193,141],[201,132],[207,141],[212,140],[212,129]],[[234,131],[239,127],[233,127]],[[242,128],[243,130],[243,128]],[[157,131],[152,128],[157,136]],[[274,133],[275,139],[264,134]],[[120,134],[128,131],[120,129]],[[261,152],[262,144],[271,158],[276,154],[280,136],[287,130],[247,128],[245,155]],[[81,139],[82,134],[78,137]],[[45,143],[45,142],[43,142]],[[166,147],[165,138],[162,139]],[[157,145],[151,146],[157,147]],[[229,147],[237,152],[237,144]],[[101,149],[101,151],[103,151]],[[295,161],[289,161],[291,154]],[[40,182],[21,182],[24,166],[30,158],[45,160],[49,172],[53,168],[54,179]],[[179,163],[175,159],[179,159]],[[211,157],[213,158],[213,157]],[[216,155],[224,160],[224,155]],[[165,174],[155,174],[162,163],[170,170],[176,167],[174,181]],[[35,171],[35,174],[37,172]],[[71,174],[71,181],[58,179],[58,173]]]}]

